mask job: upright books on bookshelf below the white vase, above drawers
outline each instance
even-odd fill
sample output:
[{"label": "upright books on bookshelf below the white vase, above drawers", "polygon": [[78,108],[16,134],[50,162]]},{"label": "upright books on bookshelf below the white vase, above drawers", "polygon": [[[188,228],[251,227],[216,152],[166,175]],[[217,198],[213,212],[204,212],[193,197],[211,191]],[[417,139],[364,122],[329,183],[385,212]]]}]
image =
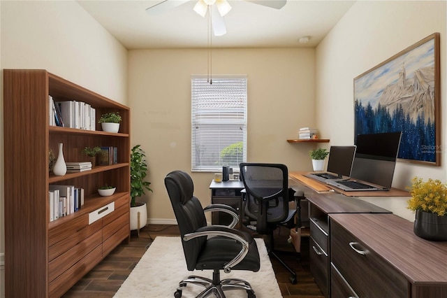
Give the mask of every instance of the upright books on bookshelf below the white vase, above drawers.
[{"label": "upright books on bookshelf below the white vase, above drawers", "polygon": [[52,222],[84,206],[84,189],[75,185],[49,185],[48,200]]}]

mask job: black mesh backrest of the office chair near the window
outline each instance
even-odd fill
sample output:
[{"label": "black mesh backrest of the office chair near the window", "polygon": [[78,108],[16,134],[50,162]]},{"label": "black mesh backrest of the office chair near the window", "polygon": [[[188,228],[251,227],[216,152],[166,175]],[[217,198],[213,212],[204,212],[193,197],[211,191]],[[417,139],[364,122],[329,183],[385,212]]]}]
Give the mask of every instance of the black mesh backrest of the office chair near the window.
[{"label": "black mesh backrest of the office chair near the window", "polygon": [[288,171],[284,164],[241,163],[240,177],[247,192],[246,214],[257,220],[256,229],[268,233],[269,224],[288,217]]}]

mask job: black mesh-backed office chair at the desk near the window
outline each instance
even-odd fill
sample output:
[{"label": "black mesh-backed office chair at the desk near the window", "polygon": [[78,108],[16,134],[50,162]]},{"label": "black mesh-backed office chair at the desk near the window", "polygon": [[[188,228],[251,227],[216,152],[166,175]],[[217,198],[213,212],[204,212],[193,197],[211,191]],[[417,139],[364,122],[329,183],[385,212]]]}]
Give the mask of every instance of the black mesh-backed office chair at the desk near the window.
[{"label": "black mesh-backed office chair at the desk near the window", "polygon": [[[288,187],[288,171],[284,164],[259,164],[242,162],[240,177],[244,183],[244,213],[256,220],[256,232],[268,235],[267,248],[290,273],[290,281],[297,282],[296,273],[281,260],[274,250],[273,232],[280,225],[293,227],[294,217],[299,208],[289,210],[288,203],[295,199],[295,190]],[[297,197],[298,199],[298,197]],[[298,221],[299,224],[299,221]]]}]

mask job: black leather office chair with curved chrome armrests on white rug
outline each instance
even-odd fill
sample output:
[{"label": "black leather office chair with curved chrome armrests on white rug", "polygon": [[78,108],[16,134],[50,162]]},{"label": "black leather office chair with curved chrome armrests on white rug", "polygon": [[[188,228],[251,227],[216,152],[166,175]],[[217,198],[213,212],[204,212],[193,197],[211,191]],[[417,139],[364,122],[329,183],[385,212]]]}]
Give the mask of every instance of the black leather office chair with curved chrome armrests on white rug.
[{"label": "black leather office chair with curved chrome armrests on white rug", "polygon": [[[182,288],[188,283],[201,285],[205,290],[197,297],[216,295],[225,297],[225,290],[246,290],[249,298],[256,298],[253,288],[247,281],[236,278],[220,279],[220,270],[259,271],[258,247],[253,237],[237,229],[237,213],[234,208],[222,204],[213,204],[202,208],[200,201],[193,195],[193,180],[183,171],[173,171],[165,178],[175,218],[182,238],[186,267],[189,271],[212,269],[212,279],[189,276],[179,282],[174,297],[182,297]],[[205,211],[219,210],[230,213],[233,220],[230,227],[221,225],[207,226]]]}]

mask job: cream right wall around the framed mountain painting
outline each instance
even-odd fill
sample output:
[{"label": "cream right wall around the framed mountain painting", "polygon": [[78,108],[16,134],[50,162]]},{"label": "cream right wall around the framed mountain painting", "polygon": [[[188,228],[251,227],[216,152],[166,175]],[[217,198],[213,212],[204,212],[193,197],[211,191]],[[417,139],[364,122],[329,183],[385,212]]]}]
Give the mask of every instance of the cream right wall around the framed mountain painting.
[{"label": "cream right wall around the framed mountain painting", "polygon": [[[331,145],[353,143],[353,78],[434,32],[441,34],[441,166],[398,162],[393,186],[413,176],[446,181],[446,1],[358,1],[316,48],[316,121]],[[408,198],[370,198],[404,218]]]}]

